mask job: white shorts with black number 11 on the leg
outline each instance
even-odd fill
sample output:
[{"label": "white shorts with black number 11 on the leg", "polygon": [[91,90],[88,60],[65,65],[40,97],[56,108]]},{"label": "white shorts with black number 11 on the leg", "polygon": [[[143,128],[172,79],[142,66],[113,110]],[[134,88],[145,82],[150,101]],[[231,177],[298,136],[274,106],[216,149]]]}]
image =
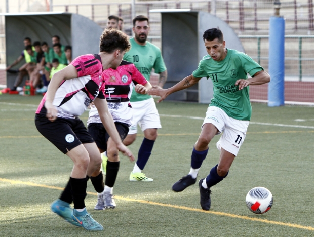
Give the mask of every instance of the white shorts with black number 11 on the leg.
[{"label": "white shorts with black number 11 on the leg", "polygon": [[[239,149],[245,139],[248,126],[248,120],[236,120],[229,117],[221,108],[210,106],[207,109],[204,124],[213,124],[219,132],[223,133],[217,142],[218,150],[221,148],[237,156]],[[202,125],[202,127],[203,127]]]}]

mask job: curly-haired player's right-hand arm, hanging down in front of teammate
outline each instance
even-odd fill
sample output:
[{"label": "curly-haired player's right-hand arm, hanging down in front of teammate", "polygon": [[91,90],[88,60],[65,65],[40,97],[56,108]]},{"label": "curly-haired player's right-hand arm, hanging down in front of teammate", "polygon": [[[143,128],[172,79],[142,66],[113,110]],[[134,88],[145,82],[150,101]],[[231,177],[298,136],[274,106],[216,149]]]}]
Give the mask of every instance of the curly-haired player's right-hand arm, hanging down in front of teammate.
[{"label": "curly-haired player's right-hand arm, hanging down in front of teammate", "polygon": [[122,143],[119,133],[116,131],[112,116],[108,111],[107,101],[105,99],[96,98],[94,100],[94,105],[96,106],[100,120],[104,125],[106,131],[110,135],[112,141],[124,155],[128,156],[130,161],[135,161],[132,152]]}]

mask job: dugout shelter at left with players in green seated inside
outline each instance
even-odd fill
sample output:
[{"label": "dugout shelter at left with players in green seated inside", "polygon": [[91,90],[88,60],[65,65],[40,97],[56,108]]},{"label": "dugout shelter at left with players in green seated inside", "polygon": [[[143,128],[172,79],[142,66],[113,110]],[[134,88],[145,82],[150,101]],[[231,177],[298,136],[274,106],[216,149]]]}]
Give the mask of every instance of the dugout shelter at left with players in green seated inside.
[{"label": "dugout shelter at left with players in green seated inside", "polygon": [[[73,13],[33,12],[5,13],[6,62],[12,64],[24,50],[23,39],[30,37],[32,43],[46,41],[52,47],[51,38],[60,37],[64,46],[72,46],[72,59],[83,54],[99,53],[102,29],[90,19]],[[22,60],[14,68],[25,63]],[[7,87],[12,87],[17,74],[7,73]],[[25,80],[25,78],[24,78]],[[24,84],[22,84],[24,85]]]}]

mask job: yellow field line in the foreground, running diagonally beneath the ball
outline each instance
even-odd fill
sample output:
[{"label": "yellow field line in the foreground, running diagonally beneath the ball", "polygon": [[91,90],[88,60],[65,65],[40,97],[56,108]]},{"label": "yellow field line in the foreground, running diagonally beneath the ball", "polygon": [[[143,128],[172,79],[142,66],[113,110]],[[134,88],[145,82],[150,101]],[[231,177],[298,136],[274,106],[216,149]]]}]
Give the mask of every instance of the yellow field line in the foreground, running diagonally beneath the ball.
[{"label": "yellow field line in the foreground, running diagonally beneath the ball", "polygon": [[[23,181],[3,179],[3,178],[0,178],[0,181],[12,183],[12,184],[24,184],[24,185],[28,185],[28,186],[34,186],[34,187],[44,187],[44,188],[50,188],[50,189],[63,190],[63,188],[61,188],[61,187],[48,186],[48,185],[44,185],[44,184],[36,184],[36,183],[32,183],[32,182],[23,182]],[[87,192],[87,193],[90,195],[97,196],[97,193],[94,193],[94,192]],[[128,202],[137,202],[137,203],[156,205],[156,206],[161,206],[161,207],[170,207],[170,208],[176,208],[176,209],[181,209],[181,210],[214,214],[214,215],[219,215],[219,216],[227,216],[227,217],[231,217],[231,218],[239,218],[239,219],[243,219],[243,220],[263,222],[266,224],[289,226],[289,227],[293,227],[293,228],[299,228],[299,229],[306,229],[306,230],[314,231],[314,227],[304,226],[304,225],[299,225],[299,224],[285,223],[285,222],[280,222],[280,221],[272,221],[272,220],[266,220],[266,219],[260,219],[260,218],[255,218],[255,217],[248,217],[248,216],[240,216],[240,215],[235,215],[235,214],[226,213],[226,212],[204,211],[204,210],[197,209],[197,208],[189,208],[189,207],[185,207],[185,206],[164,204],[164,203],[158,203],[158,202],[152,202],[152,201],[146,201],[146,200],[140,200],[140,199],[124,198],[123,196],[116,196],[116,195],[114,196],[114,198],[119,199],[119,200],[123,200],[123,201],[128,201]]]}]

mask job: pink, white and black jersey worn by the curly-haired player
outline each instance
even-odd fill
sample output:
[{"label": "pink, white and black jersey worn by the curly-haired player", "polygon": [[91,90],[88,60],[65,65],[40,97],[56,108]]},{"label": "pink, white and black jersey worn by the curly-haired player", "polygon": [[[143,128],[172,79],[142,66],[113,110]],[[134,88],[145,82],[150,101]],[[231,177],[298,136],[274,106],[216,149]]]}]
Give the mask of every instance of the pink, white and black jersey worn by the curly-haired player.
[{"label": "pink, white and black jersey worn by the curly-haired player", "polygon": [[[105,99],[105,82],[100,56],[98,54],[82,55],[70,64],[76,68],[77,78],[63,81],[53,100],[53,105],[58,109],[57,116],[68,119],[80,116],[96,97]],[[46,115],[45,101],[46,95],[36,113]]]}]

